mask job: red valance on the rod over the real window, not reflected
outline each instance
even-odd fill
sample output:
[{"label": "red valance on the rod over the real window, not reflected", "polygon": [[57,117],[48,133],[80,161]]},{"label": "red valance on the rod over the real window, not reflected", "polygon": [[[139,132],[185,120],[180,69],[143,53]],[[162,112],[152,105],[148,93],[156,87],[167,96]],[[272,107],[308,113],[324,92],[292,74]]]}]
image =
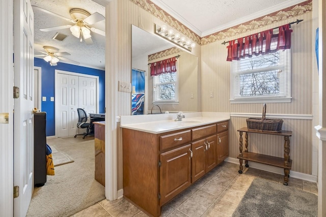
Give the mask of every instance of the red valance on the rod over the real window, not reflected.
[{"label": "red valance on the rod over the real window, not reflected", "polygon": [[[273,34],[271,28],[260,33],[229,41],[227,61],[239,60],[252,55],[265,54],[291,48],[290,24],[278,27],[279,33]],[[276,28],[277,29],[277,28]],[[237,41],[237,42],[236,42]]]}]

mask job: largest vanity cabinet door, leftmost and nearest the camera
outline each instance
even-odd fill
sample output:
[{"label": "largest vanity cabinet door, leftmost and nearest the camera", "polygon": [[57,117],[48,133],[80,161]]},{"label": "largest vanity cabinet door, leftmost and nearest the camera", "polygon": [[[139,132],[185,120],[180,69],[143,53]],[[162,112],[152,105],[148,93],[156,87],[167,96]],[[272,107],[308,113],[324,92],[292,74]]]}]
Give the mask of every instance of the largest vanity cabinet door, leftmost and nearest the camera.
[{"label": "largest vanity cabinet door, leftmost and nearest the camera", "polygon": [[191,184],[191,145],[160,154],[160,205]]}]

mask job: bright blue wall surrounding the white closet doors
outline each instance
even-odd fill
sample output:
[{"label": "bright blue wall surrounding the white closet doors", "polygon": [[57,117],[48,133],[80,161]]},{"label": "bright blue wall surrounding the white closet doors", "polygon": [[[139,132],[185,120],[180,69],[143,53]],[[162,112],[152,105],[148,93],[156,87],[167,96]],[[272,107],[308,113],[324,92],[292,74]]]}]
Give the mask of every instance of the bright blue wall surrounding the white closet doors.
[{"label": "bright blue wall surrounding the white closet doors", "polygon": [[105,71],[80,67],[70,64],[58,63],[58,66],[50,66],[44,59],[34,58],[34,66],[42,68],[42,89],[41,97],[46,97],[46,101],[41,101],[41,110],[46,112],[46,136],[56,135],[55,102],[50,101],[50,97],[55,97],[55,70],[63,70],[80,74],[94,75],[99,77],[99,112],[104,113],[105,106]]}]

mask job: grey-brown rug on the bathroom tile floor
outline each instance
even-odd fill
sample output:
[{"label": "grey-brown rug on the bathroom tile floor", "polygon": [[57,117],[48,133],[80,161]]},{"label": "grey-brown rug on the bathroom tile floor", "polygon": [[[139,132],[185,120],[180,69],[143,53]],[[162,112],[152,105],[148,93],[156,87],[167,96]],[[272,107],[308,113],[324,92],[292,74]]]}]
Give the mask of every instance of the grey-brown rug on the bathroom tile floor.
[{"label": "grey-brown rug on the bathroom tile floor", "polygon": [[317,203],[318,197],[312,193],[256,178],[232,216],[317,216]]}]

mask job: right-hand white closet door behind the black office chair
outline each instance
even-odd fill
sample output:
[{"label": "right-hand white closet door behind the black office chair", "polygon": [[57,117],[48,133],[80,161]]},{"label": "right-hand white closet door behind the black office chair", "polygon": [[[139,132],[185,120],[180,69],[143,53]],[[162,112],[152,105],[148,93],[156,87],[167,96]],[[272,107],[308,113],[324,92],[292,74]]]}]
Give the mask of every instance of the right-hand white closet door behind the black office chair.
[{"label": "right-hand white closet door behind the black office chair", "polygon": [[96,79],[79,76],[79,108],[96,113]]}]

